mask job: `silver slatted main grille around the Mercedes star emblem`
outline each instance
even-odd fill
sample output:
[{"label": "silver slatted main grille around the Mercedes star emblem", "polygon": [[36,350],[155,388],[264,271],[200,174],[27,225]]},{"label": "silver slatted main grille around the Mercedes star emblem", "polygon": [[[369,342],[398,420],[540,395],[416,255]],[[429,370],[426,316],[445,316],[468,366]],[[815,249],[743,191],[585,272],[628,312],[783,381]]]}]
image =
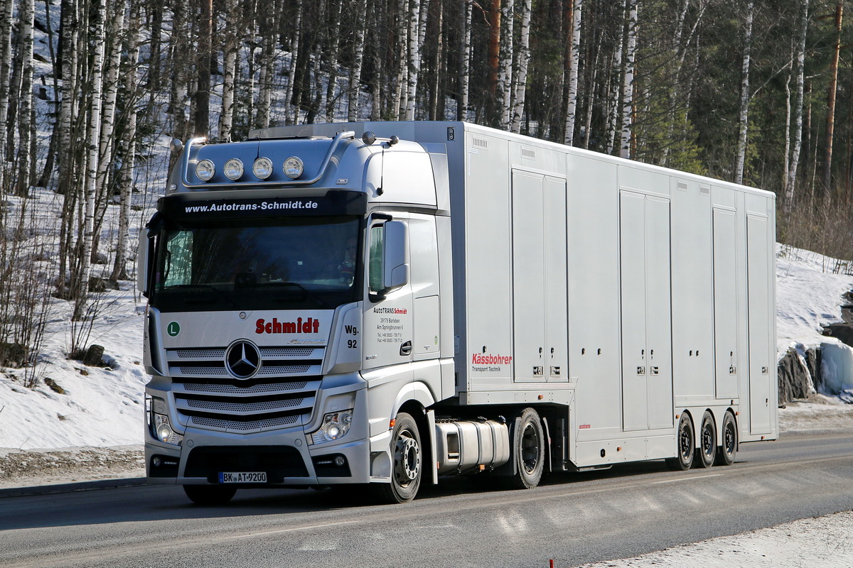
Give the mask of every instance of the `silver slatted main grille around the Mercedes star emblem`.
[{"label": "silver slatted main grille around the Mercedes star emblem", "polygon": [[255,433],[307,422],[320,387],[322,347],[261,347],[249,379],[231,376],[225,347],[166,352],[172,394],[184,426]]}]

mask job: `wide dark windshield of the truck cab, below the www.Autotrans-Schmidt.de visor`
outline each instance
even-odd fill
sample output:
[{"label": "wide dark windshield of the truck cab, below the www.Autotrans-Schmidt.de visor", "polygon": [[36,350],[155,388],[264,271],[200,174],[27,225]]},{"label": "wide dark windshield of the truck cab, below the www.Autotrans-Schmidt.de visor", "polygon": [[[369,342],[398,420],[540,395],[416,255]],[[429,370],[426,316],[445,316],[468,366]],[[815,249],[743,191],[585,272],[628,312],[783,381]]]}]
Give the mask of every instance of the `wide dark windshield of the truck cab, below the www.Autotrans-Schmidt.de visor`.
[{"label": "wide dark windshield of the truck cab, below the www.Autotrans-Schmidt.de visor", "polygon": [[160,234],[151,305],[163,312],[328,309],[357,300],[360,220],[278,218]]}]

